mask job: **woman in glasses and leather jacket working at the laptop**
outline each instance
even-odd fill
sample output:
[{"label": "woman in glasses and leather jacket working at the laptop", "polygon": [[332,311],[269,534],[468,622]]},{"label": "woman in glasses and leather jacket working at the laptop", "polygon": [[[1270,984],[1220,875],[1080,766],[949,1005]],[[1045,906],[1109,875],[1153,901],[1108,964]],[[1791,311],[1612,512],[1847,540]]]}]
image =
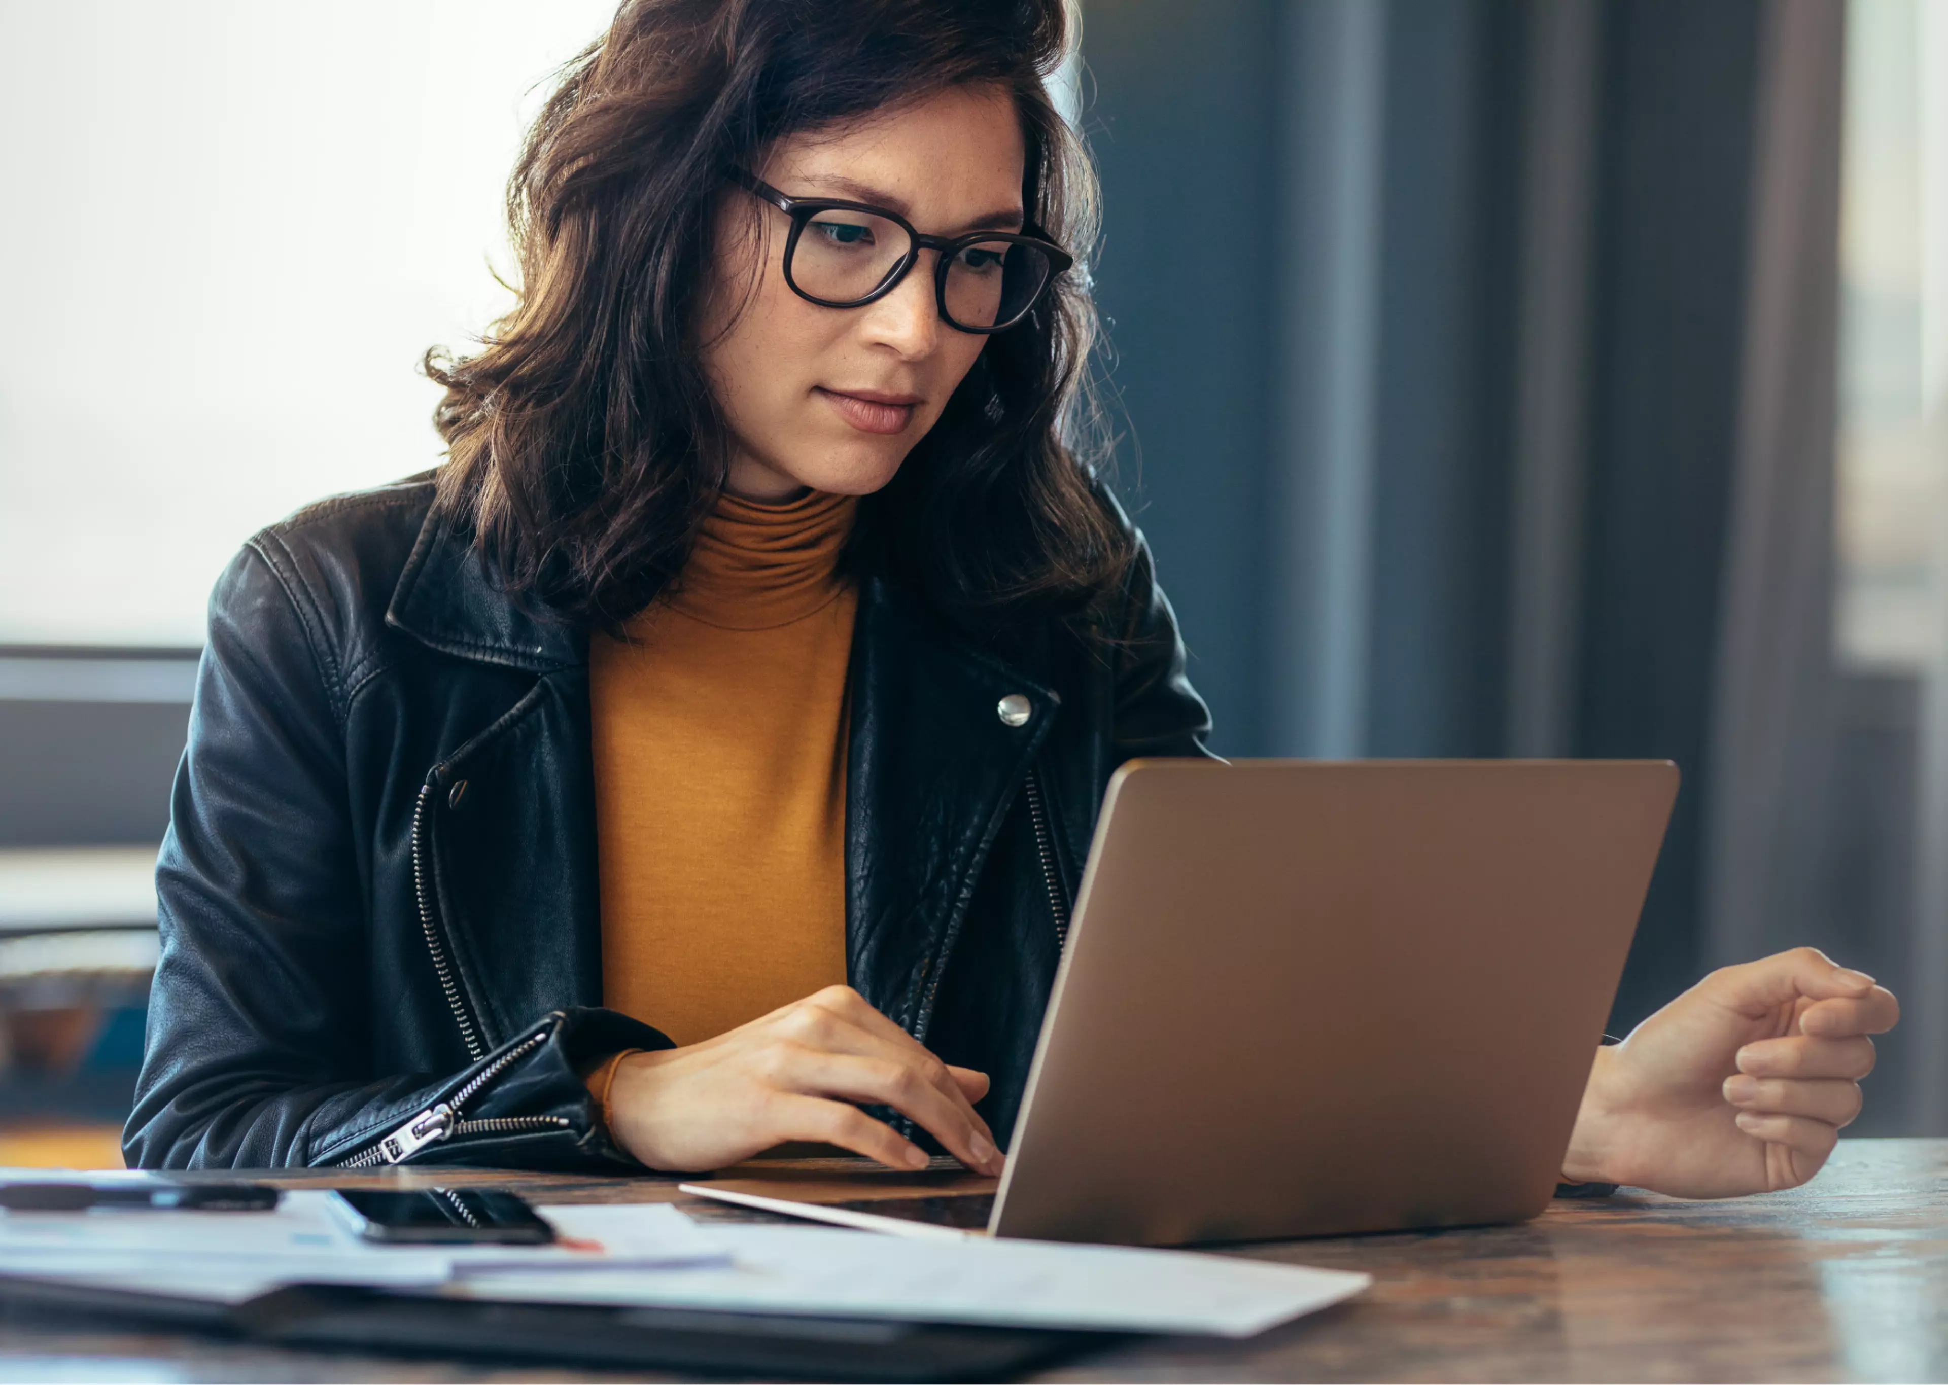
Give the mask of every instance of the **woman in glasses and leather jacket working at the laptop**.
[{"label": "woman in glasses and leather jacket working at the laptop", "polygon": [[[637,0],[512,181],[450,462],[210,606],[134,1165],[999,1171],[1099,797],[1204,754],[1075,440],[1060,0]],[[1893,997],[1714,974],[1568,1177],[1810,1177]],[[910,1138],[912,1136],[912,1138]]]}]

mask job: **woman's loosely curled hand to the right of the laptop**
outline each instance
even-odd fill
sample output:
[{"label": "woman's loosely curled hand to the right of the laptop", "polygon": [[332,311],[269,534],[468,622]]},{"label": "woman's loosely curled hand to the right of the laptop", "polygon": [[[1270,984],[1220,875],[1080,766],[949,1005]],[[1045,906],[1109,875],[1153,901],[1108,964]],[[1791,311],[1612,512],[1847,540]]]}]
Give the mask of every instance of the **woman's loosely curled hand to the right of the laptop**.
[{"label": "woman's loosely curled hand to the right of the laptop", "polygon": [[1712,972],[1597,1050],[1562,1177],[1679,1198],[1796,1188],[1860,1114],[1901,1007],[1812,947]]}]

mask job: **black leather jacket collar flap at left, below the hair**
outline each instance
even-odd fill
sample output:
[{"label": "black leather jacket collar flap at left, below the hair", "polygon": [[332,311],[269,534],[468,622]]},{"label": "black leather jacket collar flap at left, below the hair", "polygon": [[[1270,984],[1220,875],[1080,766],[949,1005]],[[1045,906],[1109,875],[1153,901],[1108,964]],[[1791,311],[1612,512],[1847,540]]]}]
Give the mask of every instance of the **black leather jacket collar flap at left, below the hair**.
[{"label": "black leather jacket collar flap at left, below the hair", "polygon": [[479,551],[429,512],[386,623],[456,658],[549,674],[588,662],[588,637],[512,600]]}]

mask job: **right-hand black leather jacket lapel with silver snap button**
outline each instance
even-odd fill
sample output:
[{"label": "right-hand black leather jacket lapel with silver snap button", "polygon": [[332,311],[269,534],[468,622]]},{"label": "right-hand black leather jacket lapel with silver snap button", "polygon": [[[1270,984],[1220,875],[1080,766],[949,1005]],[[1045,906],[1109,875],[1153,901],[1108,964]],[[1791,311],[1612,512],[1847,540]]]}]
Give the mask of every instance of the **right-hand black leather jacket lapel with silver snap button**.
[{"label": "right-hand black leather jacket lapel with silver snap button", "polygon": [[[1025,697],[1009,725],[1003,697]],[[1054,690],[859,592],[845,760],[847,974],[923,1036],[933,988],[1009,805],[1060,709]]]}]

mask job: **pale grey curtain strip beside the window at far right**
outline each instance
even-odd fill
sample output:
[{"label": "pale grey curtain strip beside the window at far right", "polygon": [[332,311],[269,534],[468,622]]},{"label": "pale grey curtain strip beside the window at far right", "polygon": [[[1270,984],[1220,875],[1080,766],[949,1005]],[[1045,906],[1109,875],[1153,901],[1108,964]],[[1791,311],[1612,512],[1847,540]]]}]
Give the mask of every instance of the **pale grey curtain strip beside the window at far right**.
[{"label": "pale grey curtain strip beside the window at far right", "polygon": [[1706,956],[1802,941],[1831,916],[1837,803],[1833,489],[1845,0],[1761,16],[1743,380],[1720,596]]}]

